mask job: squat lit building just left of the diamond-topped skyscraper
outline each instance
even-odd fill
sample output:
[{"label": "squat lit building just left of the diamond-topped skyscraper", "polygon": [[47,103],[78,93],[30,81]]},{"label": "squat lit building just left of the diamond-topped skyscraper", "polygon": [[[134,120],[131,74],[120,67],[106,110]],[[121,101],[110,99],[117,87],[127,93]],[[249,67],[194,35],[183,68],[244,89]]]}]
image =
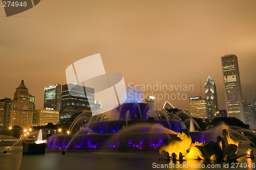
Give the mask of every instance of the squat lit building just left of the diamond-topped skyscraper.
[{"label": "squat lit building just left of the diamond-topped skyscraper", "polygon": [[197,118],[207,118],[206,99],[201,96],[194,96],[189,98],[190,115]]}]

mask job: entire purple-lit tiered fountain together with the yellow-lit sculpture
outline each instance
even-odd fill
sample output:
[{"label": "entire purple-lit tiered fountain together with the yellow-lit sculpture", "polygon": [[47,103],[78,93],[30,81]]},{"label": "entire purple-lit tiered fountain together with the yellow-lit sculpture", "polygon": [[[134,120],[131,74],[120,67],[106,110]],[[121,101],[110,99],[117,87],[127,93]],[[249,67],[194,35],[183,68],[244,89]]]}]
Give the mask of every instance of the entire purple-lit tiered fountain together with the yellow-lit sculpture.
[{"label": "entire purple-lit tiered fountain together with the yellow-lit sculpture", "polygon": [[[111,114],[115,118],[118,115],[118,119],[85,123],[74,135],[50,136],[47,148],[63,150],[62,154],[67,150],[153,149],[160,155],[166,153],[171,160],[234,161],[245,155],[253,157],[251,150],[249,156],[248,153],[237,155],[239,142],[227,129],[189,132],[194,129],[193,124],[189,124],[188,130],[178,118],[160,119],[159,115],[168,117],[166,110],[156,112],[152,104],[124,103]],[[180,114],[191,118],[184,112]]]}]

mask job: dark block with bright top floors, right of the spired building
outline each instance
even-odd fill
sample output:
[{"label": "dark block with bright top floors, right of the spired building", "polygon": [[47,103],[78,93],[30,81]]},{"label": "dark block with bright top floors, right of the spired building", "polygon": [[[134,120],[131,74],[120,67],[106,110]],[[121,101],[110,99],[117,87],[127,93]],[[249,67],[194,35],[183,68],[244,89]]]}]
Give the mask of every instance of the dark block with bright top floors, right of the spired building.
[{"label": "dark block with bright top floors, right of the spired building", "polygon": [[60,110],[61,109],[61,85],[56,84],[45,87],[44,109]]}]

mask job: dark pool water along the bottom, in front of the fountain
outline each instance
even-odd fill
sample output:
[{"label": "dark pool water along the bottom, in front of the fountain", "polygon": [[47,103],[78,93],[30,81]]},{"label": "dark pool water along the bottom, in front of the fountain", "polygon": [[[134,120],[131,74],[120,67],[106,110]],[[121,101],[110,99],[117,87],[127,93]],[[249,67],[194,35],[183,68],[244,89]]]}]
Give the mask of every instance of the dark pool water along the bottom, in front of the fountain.
[{"label": "dark pool water along the bottom, in front of the fountain", "polygon": [[[0,147],[0,169],[255,169],[255,159],[246,156],[236,162],[215,162],[208,160],[186,160],[183,162],[166,160],[165,155],[158,154],[157,149],[151,151],[62,151],[46,150],[42,155],[23,155],[22,146],[14,146],[7,153],[9,147]],[[242,141],[239,153],[245,153],[249,142]],[[256,148],[251,148],[256,153]],[[208,168],[210,166],[211,168]],[[176,167],[176,168],[175,168]]]}]

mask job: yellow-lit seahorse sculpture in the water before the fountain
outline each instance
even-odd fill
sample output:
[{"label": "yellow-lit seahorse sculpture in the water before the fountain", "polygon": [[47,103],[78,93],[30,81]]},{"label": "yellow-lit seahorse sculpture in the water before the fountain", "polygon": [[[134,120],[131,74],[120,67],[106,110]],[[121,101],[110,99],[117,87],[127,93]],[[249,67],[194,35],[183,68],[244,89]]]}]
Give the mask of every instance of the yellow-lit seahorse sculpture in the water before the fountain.
[{"label": "yellow-lit seahorse sculpture in the water before the fountain", "polygon": [[158,148],[159,154],[167,153],[168,159],[203,159],[203,160],[236,160],[246,154],[237,155],[238,141],[229,136],[226,129],[222,131],[223,138],[218,136],[217,142],[191,143],[191,137],[179,132],[177,137],[171,138],[167,144]]}]

